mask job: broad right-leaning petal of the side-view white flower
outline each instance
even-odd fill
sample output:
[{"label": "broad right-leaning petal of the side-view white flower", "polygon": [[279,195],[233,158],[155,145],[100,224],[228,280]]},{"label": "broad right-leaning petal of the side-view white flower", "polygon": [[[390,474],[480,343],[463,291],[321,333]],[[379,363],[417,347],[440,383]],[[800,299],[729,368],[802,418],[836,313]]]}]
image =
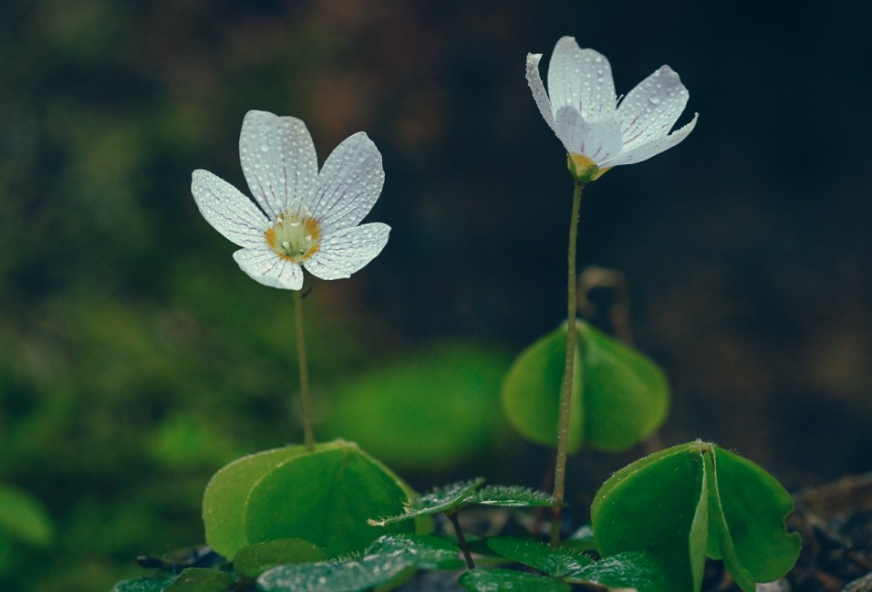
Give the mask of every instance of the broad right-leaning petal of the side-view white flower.
[{"label": "broad right-leaning petal of the side-view white flower", "polygon": [[629,91],[618,107],[624,150],[664,138],[679,119],[690,93],[679,75],[663,66]]}]

